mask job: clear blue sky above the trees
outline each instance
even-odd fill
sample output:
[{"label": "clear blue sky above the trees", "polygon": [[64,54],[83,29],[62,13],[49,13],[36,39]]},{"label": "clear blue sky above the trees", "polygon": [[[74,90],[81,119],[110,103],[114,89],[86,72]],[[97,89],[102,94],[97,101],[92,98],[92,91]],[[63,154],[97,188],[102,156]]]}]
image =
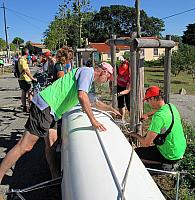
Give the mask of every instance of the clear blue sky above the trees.
[{"label": "clear blue sky above the trees", "polygon": [[[41,42],[42,34],[48,24],[54,19],[58,5],[64,0],[4,0],[8,28],[9,42],[14,37],[21,37],[25,41]],[[94,10],[101,6],[120,4],[133,7],[135,0],[91,0]],[[114,3],[117,2],[117,3]],[[3,0],[0,0],[0,7]],[[195,0],[140,0],[140,8],[148,16],[164,18],[175,13],[195,8]],[[195,10],[165,19],[163,35],[183,35],[186,26],[195,23]],[[5,39],[3,9],[0,9],[0,38]]]}]

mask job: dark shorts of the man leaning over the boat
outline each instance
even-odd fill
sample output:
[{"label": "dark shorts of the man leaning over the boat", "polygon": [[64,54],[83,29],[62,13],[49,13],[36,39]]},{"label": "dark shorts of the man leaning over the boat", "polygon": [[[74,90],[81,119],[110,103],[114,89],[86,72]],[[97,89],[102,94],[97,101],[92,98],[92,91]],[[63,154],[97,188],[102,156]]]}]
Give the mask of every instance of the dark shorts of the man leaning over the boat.
[{"label": "dark shorts of the man leaning over the boat", "polygon": [[46,137],[50,128],[57,129],[57,123],[50,112],[50,107],[40,110],[32,103],[29,118],[25,124],[26,130],[38,137]]}]

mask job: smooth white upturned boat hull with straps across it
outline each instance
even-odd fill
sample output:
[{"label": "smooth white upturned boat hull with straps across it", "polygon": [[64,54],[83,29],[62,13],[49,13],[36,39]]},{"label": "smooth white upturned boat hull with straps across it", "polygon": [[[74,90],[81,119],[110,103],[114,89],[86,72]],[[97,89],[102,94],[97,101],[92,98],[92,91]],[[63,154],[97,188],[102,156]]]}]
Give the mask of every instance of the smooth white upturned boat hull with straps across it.
[{"label": "smooth white upturned boat hull with straps across it", "polygon": [[112,117],[97,109],[93,113],[105,132],[92,127],[80,106],[63,116],[62,200],[164,200]]}]

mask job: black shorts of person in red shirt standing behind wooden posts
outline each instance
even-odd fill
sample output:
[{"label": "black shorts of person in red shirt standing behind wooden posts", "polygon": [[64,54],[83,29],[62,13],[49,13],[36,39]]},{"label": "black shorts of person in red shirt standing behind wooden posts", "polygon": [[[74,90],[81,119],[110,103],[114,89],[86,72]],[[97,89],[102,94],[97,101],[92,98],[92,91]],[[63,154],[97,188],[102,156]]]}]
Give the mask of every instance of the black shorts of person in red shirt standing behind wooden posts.
[{"label": "black shorts of person in red shirt standing behind wooden posts", "polygon": [[[121,87],[117,85],[117,93],[123,90],[126,90],[126,87]],[[118,100],[118,108],[124,108],[126,104],[127,110],[130,111],[130,92],[128,94],[117,97],[117,100]]]}]

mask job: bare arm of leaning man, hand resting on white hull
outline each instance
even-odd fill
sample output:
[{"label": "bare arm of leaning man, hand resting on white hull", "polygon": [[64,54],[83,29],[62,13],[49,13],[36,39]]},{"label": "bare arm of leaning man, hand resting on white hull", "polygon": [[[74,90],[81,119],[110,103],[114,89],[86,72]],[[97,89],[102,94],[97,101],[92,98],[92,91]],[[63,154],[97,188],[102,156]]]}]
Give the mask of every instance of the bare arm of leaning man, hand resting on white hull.
[{"label": "bare arm of leaning man, hand resting on white hull", "polygon": [[106,128],[104,127],[104,125],[99,123],[93,115],[88,94],[84,91],[78,91],[78,98],[83,110],[86,112],[87,116],[89,117],[91,124],[100,131],[106,131]]}]

